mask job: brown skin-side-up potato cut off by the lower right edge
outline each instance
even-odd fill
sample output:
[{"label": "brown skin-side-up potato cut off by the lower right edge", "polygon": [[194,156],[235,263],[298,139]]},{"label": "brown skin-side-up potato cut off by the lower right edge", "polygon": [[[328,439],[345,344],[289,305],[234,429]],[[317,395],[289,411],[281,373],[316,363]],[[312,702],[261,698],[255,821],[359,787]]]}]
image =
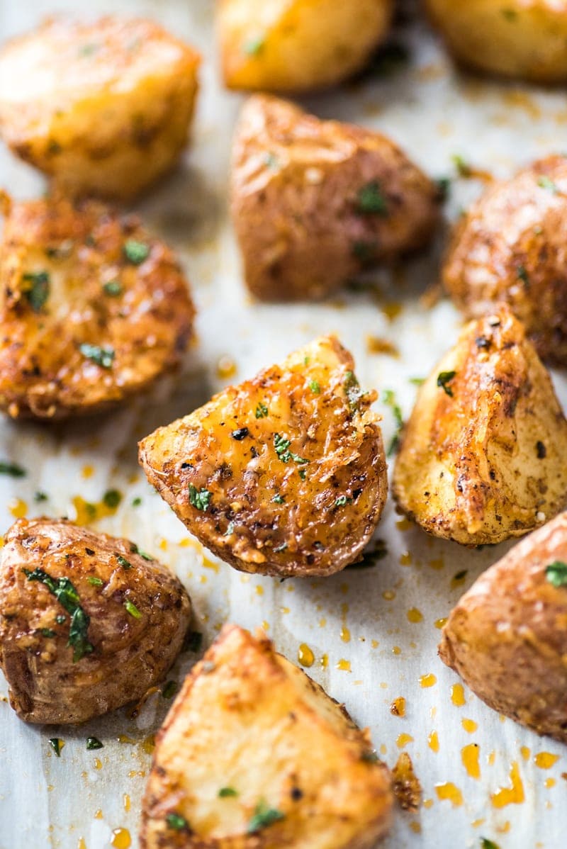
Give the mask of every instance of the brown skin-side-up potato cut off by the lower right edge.
[{"label": "brown skin-side-up potato cut off by the lower right edge", "polygon": [[567,561],[567,513],[486,571],[452,610],[439,655],[499,713],[567,743],[567,587],[546,566]]}]

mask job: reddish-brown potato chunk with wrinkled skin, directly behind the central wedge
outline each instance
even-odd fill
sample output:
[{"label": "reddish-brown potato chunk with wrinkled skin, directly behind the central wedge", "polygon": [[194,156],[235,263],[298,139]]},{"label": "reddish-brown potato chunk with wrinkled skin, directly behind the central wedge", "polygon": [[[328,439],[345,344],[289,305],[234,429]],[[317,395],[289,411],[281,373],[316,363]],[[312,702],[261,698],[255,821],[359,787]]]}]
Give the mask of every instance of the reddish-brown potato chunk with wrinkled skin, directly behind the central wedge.
[{"label": "reddish-brown potato chunk with wrinkled skin, directly behind the central wedge", "polygon": [[[373,184],[385,209],[369,214],[359,193]],[[327,295],[423,247],[440,215],[435,185],[389,138],[263,94],[240,115],[231,195],[244,278],[265,301]]]}]

